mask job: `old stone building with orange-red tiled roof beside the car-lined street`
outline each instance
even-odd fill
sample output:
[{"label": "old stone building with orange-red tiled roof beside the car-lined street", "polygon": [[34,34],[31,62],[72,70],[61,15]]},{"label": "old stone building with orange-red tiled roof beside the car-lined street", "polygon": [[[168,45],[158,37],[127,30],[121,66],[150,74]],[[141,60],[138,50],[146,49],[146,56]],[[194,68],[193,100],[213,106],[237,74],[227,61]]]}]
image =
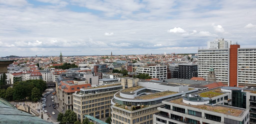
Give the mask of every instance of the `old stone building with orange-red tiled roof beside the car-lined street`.
[{"label": "old stone building with orange-red tiled roof beside the car-lined street", "polygon": [[[73,110],[73,96],[72,94],[76,91],[80,91],[81,88],[89,88],[91,84],[83,83],[83,84],[75,84],[74,80],[68,81],[60,81],[58,84],[58,99],[59,99],[59,107],[63,110],[71,109]],[[56,89],[57,89],[56,88]]]}]

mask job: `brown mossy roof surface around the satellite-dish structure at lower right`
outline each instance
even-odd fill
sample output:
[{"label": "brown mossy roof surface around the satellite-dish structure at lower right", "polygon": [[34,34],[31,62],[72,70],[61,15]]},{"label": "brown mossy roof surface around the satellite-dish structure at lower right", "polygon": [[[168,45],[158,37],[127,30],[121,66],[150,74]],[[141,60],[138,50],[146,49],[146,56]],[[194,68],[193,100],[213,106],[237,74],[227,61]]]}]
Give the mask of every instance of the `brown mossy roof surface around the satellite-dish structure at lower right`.
[{"label": "brown mossy roof surface around the satellite-dish structure at lower right", "polygon": [[[191,106],[191,107],[199,108],[199,109],[203,109],[203,110],[214,111],[217,113],[222,113],[222,114],[236,116],[236,117],[240,116],[243,113],[243,110],[241,110],[241,109],[236,109],[236,108],[232,108],[232,107],[228,107],[228,106],[224,107],[224,106],[221,106],[218,104],[214,105],[214,106],[206,105],[206,104],[205,105],[188,105],[186,103],[183,103],[183,98],[179,98],[179,99],[172,100],[169,102],[179,104],[179,105]],[[230,113],[228,113],[228,111],[230,111]]]}]

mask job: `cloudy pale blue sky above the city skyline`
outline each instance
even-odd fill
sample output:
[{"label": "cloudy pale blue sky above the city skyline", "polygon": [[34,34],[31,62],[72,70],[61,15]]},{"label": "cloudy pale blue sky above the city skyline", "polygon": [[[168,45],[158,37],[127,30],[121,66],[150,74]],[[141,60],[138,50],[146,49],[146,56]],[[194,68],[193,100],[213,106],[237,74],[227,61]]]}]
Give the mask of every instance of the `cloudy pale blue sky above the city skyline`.
[{"label": "cloudy pale blue sky above the city skyline", "polygon": [[0,0],[0,56],[197,53],[256,47],[255,0]]}]

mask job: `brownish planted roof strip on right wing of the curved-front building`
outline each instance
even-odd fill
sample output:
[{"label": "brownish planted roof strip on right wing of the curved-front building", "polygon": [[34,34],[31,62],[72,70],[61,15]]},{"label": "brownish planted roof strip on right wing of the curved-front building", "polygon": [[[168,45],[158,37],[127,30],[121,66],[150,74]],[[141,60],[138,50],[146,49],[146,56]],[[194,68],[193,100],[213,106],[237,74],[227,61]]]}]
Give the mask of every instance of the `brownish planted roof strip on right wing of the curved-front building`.
[{"label": "brownish planted roof strip on right wing of the curved-front building", "polygon": [[152,94],[148,94],[148,95],[142,95],[142,96],[138,96],[138,99],[142,99],[142,100],[147,100],[147,99],[152,99],[152,98],[158,98],[158,97],[162,97],[162,96],[167,96],[167,95],[172,95],[172,94],[176,94],[177,92],[173,92],[173,91],[163,91],[163,92],[157,92],[157,93],[152,93]]}]

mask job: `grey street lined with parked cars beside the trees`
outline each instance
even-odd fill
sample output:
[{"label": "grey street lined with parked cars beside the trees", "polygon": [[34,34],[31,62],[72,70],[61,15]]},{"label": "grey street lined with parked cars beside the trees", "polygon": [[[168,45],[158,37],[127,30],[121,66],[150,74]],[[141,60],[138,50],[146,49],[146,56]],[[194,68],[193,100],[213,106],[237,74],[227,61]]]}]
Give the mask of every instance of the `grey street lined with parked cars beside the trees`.
[{"label": "grey street lined with parked cars beside the trees", "polygon": [[[57,109],[53,109],[53,107],[52,107],[52,99],[51,99],[51,96],[56,97],[56,95],[53,95],[53,94],[52,94],[55,90],[56,90],[56,88],[53,88],[52,91],[49,91],[49,92],[51,92],[51,93],[46,97],[46,99],[47,99],[47,101],[46,101],[47,107],[45,108],[45,110],[47,110],[48,113],[50,113],[50,115],[51,115],[51,117],[52,117],[53,120],[57,121],[57,116],[58,116],[58,114],[59,114],[59,111],[58,111]],[[46,90],[46,91],[47,91],[47,90]],[[47,91],[47,92],[48,92],[48,91]],[[55,98],[54,98],[54,103],[55,103]],[[49,106],[49,104],[51,104],[51,106]],[[55,103],[55,107],[56,107],[56,103]],[[55,115],[52,115],[52,112],[55,112]]]}]

